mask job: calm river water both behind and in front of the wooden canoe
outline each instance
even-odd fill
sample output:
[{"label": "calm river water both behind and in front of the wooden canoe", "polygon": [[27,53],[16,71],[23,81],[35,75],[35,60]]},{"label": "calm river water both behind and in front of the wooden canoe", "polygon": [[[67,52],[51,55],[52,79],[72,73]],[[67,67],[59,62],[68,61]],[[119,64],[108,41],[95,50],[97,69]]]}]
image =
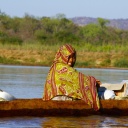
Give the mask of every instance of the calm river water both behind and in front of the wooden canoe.
[{"label": "calm river water both behind and in front of the wooden canoe", "polygon": [[[0,89],[16,98],[41,98],[49,67],[0,65]],[[128,79],[128,70],[77,68],[92,75],[102,83],[120,83]],[[90,128],[128,127],[128,116],[87,117],[4,117],[0,128]]]}]

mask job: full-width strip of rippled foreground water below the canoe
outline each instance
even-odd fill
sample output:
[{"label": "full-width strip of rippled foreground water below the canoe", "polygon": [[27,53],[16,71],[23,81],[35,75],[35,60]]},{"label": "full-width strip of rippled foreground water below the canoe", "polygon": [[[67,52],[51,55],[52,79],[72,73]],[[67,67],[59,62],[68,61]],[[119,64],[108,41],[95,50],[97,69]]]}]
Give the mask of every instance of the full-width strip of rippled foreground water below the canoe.
[{"label": "full-width strip of rippled foreground water below the canoe", "polygon": [[113,128],[128,127],[128,117],[13,117],[1,118],[0,127],[40,127],[40,128]]}]

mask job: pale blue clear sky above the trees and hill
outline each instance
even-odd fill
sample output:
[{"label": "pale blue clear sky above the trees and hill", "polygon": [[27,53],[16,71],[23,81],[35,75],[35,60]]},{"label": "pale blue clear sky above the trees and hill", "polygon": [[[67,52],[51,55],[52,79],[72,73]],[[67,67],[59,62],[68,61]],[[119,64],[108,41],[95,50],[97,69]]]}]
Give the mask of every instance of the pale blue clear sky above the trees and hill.
[{"label": "pale blue clear sky above the trees and hill", "polygon": [[0,10],[9,16],[36,17],[65,14],[73,17],[128,19],[128,0],[0,0]]}]

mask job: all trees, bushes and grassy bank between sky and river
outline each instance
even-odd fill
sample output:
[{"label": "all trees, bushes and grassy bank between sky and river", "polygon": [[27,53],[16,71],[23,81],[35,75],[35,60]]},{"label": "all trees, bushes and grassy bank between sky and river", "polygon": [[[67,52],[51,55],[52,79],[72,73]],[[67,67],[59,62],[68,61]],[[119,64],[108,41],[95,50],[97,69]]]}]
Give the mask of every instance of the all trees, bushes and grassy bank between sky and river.
[{"label": "all trees, bushes and grassy bank between sky and river", "polygon": [[50,66],[65,43],[77,50],[77,67],[128,67],[128,30],[97,24],[78,26],[65,15],[23,18],[0,12],[0,63]]}]

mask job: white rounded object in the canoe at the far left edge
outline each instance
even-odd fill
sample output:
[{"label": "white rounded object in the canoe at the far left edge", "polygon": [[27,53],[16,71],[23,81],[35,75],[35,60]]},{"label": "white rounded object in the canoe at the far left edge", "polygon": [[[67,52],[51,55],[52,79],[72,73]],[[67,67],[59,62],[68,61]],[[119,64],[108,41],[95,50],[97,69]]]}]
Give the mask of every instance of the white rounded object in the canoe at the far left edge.
[{"label": "white rounded object in the canoe at the far left edge", "polygon": [[15,99],[16,98],[13,95],[0,89],[0,101],[11,101]]}]

